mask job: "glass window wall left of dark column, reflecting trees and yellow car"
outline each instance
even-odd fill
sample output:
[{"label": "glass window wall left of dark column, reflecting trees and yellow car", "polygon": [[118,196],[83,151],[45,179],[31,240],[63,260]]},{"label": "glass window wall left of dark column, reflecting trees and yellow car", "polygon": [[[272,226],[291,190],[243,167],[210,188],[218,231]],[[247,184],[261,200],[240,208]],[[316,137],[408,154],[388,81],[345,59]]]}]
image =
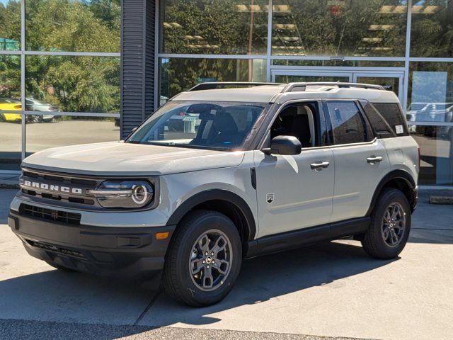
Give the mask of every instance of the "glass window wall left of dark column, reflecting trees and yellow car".
[{"label": "glass window wall left of dark column, reflecting trees and yellow car", "polygon": [[119,140],[120,21],[120,0],[0,0],[0,172],[47,147]]}]

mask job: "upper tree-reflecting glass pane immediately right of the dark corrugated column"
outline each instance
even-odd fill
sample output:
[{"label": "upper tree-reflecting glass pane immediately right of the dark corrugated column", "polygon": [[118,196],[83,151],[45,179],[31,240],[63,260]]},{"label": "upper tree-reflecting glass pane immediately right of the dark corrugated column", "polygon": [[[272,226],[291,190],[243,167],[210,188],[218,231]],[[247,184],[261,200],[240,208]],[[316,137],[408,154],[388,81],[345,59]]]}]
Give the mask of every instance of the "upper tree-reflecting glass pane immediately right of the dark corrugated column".
[{"label": "upper tree-reflecting glass pane immediately right of the dark corrugated column", "polygon": [[265,54],[268,0],[164,0],[161,52]]}]

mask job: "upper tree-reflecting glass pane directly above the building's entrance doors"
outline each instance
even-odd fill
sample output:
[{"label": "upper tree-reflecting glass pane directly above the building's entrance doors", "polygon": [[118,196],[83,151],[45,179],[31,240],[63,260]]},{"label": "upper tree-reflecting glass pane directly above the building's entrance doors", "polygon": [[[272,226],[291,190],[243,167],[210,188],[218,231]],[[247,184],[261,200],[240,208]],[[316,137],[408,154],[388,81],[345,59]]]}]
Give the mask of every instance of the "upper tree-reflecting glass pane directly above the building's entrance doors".
[{"label": "upper tree-reflecting glass pane directly above the building's entrance doors", "polygon": [[275,0],[273,55],[403,57],[407,1]]}]

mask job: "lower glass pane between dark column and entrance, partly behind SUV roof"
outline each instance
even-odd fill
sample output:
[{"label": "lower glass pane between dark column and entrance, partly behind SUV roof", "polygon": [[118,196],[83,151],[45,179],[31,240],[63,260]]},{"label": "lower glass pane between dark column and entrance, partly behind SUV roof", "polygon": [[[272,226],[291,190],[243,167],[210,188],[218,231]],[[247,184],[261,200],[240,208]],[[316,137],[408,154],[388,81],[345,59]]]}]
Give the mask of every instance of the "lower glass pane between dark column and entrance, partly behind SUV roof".
[{"label": "lower glass pane between dark column and entrance, partly behind SUV roof", "polygon": [[161,59],[161,105],[168,98],[208,81],[265,81],[265,60]]}]

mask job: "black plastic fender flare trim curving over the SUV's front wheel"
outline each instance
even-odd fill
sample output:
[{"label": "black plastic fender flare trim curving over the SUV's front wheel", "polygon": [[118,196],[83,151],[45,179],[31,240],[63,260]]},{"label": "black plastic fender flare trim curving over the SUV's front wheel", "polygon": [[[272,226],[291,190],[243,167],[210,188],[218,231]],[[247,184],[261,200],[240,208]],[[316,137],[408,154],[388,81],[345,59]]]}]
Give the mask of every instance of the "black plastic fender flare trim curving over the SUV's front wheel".
[{"label": "black plastic fender flare trim curving over the SUV's front wheel", "polygon": [[180,220],[182,220],[183,217],[188,212],[190,212],[190,210],[193,210],[193,208],[195,208],[197,205],[208,202],[210,200],[224,200],[238,208],[247,222],[246,227],[248,227],[248,240],[250,241],[255,238],[256,224],[251,208],[248,206],[246,201],[241,198],[241,196],[236,195],[236,193],[232,193],[231,191],[221,189],[202,191],[200,193],[196,193],[194,196],[191,196],[190,198],[185,200],[178,208],[176,208],[176,210],[168,219],[166,225],[178,225]]}]

